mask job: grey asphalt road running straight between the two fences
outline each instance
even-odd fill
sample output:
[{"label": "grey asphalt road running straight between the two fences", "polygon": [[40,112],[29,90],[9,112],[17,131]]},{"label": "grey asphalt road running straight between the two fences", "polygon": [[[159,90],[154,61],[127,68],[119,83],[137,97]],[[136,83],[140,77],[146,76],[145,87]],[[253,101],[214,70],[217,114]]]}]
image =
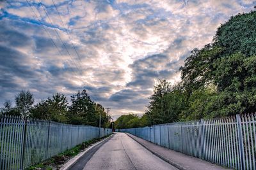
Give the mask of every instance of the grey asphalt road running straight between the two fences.
[{"label": "grey asphalt road running straight between the two fences", "polygon": [[72,170],[93,169],[177,169],[124,133],[116,133],[92,153],[84,155]]}]

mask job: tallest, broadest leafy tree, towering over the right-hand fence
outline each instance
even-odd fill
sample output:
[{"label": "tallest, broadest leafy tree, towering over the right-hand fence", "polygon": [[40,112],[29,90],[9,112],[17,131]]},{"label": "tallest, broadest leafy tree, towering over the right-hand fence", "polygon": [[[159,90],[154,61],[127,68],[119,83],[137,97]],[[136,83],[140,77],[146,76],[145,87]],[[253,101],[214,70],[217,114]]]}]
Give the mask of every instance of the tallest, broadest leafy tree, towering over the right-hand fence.
[{"label": "tallest, broadest leafy tree, towering over the right-hand fence", "polygon": [[223,117],[256,109],[256,11],[231,17],[211,45],[193,50],[183,67],[188,105],[182,119]]}]

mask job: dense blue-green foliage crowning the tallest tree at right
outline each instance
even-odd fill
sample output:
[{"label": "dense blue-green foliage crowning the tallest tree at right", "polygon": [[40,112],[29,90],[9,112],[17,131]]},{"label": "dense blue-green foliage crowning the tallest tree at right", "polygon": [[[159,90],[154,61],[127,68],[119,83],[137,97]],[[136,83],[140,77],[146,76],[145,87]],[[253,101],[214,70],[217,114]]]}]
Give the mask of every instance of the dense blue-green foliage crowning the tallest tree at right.
[{"label": "dense blue-green foliage crowning the tallest tree at right", "polygon": [[216,46],[223,46],[224,56],[233,53],[243,53],[246,56],[252,56],[256,53],[256,12],[243,13],[231,17],[228,22],[222,24],[216,36],[214,43]]}]

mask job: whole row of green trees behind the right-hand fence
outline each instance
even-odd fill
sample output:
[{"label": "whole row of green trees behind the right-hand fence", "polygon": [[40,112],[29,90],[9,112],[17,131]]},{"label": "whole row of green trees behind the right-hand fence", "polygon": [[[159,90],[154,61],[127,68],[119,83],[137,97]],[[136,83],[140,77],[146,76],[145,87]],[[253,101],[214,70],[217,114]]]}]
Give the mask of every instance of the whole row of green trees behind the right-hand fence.
[{"label": "whole row of green trees behind the right-hand fence", "polygon": [[221,24],[212,43],[195,48],[181,81],[161,80],[143,117],[125,115],[116,128],[141,127],[256,111],[256,11]]}]

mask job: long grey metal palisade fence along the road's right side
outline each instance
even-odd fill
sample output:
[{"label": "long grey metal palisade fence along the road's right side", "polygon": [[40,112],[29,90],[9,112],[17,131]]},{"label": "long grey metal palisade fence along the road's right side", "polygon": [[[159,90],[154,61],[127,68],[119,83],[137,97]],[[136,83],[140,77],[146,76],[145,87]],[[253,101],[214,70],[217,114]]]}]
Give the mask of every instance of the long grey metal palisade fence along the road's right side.
[{"label": "long grey metal palisade fence along the road's right side", "polygon": [[119,129],[234,169],[256,169],[256,115]]}]

